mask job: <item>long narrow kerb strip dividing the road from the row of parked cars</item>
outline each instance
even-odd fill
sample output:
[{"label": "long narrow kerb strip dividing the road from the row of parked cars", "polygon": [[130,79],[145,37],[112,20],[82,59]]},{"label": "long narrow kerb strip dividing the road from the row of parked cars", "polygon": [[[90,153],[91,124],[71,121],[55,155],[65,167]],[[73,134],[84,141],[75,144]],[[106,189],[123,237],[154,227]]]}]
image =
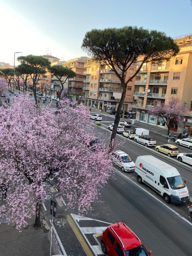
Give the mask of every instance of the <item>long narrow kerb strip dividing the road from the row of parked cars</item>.
[{"label": "long narrow kerb strip dividing the road from the row of parked cars", "polygon": [[[108,131],[108,132],[112,132],[112,131],[109,131],[109,130],[107,130],[106,128],[103,128],[103,127],[100,127],[100,126],[98,126],[97,125],[97,127],[98,128],[101,128],[101,129],[103,129],[103,130],[105,130],[105,131]],[[156,150],[153,150],[153,149],[150,149],[150,148],[148,148],[148,147],[145,147],[145,146],[143,146],[143,145],[141,145],[141,144],[139,144],[139,143],[137,143],[137,142],[135,142],[135,141],[131,141],[130,139],[127,139],[127,138],[125,138],[125,137],[123,137],[123,136],[121,136],[121,135],[119,135],[119,134],[116,134],[116,136],[118,136],[119,138],[123,138],[123,139],[125,139],[126,141],[129,141],[130,143],[132,143],[132,144],[137,144],[137,146],[139,146],[140,148],[144,148],[144,149],[146,149],[146,150],[148,150],[148,151],[150,151],[150,152],[152,152],[152,153],[154,153],[154,154],[156,154],[156,155],[158,155],[158,156],[162,156],[162,154],[161,153],[159,153],[159,152],[157,152]],[[168,160],[170,160],[170,161],[172,161],[172,162],[174,162],[174,163],[176,163],[176,164],[180,164],[181,166],[183,166],[183,167],[185,167],[185,168],[188,168],[191,172],[192,172],[192,167],[191,166],[188,166],[187,164],[184,164],[183,162],[179,162],[179,161],[177,161],[177,160],[175,160],[175,159],[173,159],[173,158],[171,158],[171,157],[169,157],[169,156],[166,156],[165,154],[163,154],[163,156],[166,158],[166,159],[168,159]]]}]

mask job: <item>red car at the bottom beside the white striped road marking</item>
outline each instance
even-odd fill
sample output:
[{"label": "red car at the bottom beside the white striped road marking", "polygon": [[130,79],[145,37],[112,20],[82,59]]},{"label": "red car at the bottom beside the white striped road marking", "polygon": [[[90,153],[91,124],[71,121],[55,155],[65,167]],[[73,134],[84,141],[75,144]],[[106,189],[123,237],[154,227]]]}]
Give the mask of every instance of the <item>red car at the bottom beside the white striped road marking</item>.
[{"label": "red car at the bottom beside the white striped road marking", "polygon": [[123,222],[112,224],[104,230],[101,249],[109,256],[149,256],[152,253]]}]

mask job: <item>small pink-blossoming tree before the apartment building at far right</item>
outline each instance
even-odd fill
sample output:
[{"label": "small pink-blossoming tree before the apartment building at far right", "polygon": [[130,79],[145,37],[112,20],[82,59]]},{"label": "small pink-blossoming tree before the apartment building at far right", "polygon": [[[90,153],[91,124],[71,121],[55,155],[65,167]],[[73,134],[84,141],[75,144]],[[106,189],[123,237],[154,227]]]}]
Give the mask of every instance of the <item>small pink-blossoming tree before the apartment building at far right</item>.
[{"label": "small pink-blossoming tree before the apartment building at far right", "polygon": [[161,117],[168,127],[167,134],[169,135],[170,127],[175,123],[180,123],[183,119],[183,114],[189,109],[186,108],[175,96],[169,98],[168,104],[161,100],[154,100],[152,105],[148,106],[148,113]]}]

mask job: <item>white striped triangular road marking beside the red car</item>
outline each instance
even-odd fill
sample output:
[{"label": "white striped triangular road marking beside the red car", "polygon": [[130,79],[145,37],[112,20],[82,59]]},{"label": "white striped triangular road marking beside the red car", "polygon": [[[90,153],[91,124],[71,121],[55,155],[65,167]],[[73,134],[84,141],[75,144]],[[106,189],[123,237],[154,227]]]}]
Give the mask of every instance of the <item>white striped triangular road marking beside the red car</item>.
[{"label": "white striped triangular road marking beside the red car", "polygon": [[[102,232],[112,223],[105,222],[102,220],[96,220],[84,216],[79,216],[71,213],[71,217],[73,218],[75,224],[79,228],[82,233],[84,239],[87,241],[88,245],[92,249],[95,256],[103,254],[101,250],[101,245],[97,239],[98,236],[102,235]],[[99,226],[98,226],[99,225]],[[92,241],[88,239],[88,234],[92,234],[95,243],[97,245],[92,245]]]}]

